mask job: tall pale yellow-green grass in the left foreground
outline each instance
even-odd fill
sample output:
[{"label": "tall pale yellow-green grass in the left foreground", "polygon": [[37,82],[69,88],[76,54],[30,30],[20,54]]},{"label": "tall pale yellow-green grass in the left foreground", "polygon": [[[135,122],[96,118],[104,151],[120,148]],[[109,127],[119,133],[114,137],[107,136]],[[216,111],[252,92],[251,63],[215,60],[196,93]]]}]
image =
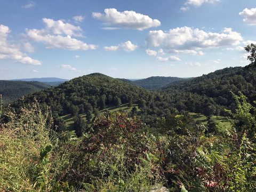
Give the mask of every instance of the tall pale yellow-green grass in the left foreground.
[{"label": "tall pale yellow-green grass in the left foreground", "polygon": [[[59,151],[52,131],[50,111],[44,114],[34,103],[0,127],[0,191],[51,191],[68,164],[68,153]],[[51,149],[43,154],[47,146]],[[65,154],[66,153],[66,154]]]}]

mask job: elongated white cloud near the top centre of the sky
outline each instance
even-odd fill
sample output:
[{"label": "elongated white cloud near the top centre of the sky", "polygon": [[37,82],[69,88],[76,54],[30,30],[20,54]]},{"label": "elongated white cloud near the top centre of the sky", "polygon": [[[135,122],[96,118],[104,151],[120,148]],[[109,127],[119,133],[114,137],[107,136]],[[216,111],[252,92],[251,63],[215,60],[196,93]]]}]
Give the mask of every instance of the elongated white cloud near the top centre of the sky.
[{"label": "elongated white cloud near the top centre of the sky", "polygon": [[105,22],[106,25],[114,25],[127,29],[144,30],[161,25],[159,20],[151,19],[148,15],[134,11],[118,12],[116,9],[105,9],[104,12],[105,14],[93,12],[92,17]]}]

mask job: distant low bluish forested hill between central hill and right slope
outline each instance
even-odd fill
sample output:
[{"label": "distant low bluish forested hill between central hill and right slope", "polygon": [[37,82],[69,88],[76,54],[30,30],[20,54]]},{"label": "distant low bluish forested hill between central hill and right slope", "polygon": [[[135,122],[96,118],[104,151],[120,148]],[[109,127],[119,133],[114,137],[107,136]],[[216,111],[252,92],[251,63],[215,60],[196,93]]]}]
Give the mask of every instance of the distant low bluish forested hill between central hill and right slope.
[{"label": "distant low bluish forested hill between central hill and right slope", "polygon": [[133,84],[141,86],[147,90],[157,90],[162,87],[177,81],[183,81],[184,78],[179,77],[148,77],[137,81],[132,81]]}]

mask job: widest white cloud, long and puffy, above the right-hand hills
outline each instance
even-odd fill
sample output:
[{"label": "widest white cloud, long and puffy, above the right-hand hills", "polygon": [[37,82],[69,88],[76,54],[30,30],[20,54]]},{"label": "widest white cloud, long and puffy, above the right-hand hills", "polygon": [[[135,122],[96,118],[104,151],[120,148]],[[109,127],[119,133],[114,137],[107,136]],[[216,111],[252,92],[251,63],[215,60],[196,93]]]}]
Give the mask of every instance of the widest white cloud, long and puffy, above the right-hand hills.
[{"label": "widest white cloud, long and puffy, above the right-hand hills", "polygon": [[147,46],[164,49],[195,50],[227,45],[237,45],[243,40],[241,34],[231,28],[223,29],[222,33],[207,33],[204,30],[190,27],[178,27],[169,31],[149,31]]}]

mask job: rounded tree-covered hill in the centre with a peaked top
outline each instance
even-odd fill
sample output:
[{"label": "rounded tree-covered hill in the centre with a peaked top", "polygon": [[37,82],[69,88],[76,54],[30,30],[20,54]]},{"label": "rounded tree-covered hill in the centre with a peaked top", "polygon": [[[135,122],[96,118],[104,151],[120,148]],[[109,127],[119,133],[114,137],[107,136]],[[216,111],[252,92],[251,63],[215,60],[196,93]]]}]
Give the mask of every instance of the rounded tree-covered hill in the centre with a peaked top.
[{"label": "rounded tree-covered hill in the centre with a peaked top", "polygon": [[[27,95],[25,102],[33,102],[36,98],[42,104],[51,106],[54,113],[65,115],[92,113],[93,109],[119,106],[129,101],[137,103],[139,98],[146,100],[149,95],[149,91],[141,87],[94,73]],[[19,107],[20,104],[16,102],[13,106]]]}]

